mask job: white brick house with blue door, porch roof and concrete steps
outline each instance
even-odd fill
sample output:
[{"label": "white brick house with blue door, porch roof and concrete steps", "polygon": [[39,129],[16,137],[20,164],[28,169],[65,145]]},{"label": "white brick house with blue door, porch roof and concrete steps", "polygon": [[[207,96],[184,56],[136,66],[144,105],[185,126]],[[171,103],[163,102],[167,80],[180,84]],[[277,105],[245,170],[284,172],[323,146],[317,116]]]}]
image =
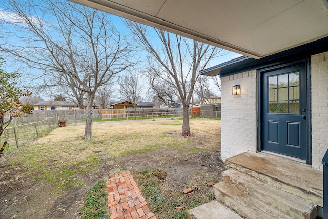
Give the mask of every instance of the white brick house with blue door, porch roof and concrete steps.
[{"label": "white brick house with blue door, porch roof and concrete steps", "polygon": [[[220,154],[232,167],[214,196],[244,218],[328,218],[327,0],[74,2],[247,55],[201,71],[221,78]],[[213,205],[195,214],[229,217]]]}]

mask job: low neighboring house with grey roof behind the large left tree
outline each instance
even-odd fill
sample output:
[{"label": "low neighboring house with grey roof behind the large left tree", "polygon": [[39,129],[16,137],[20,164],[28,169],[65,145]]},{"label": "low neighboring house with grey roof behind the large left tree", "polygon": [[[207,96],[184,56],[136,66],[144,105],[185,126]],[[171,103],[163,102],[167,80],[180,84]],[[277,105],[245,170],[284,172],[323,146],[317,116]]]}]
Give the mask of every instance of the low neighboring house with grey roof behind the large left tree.
[{"label": "low neighboring house with grey roof behind the large left tree", "polygon": [[[83,103],[83,109],[86,109],[87,103]],[[80,109],[77,104],[70,101],[40,101],[36,104],[32,104],[34,106],[34,110],[72,110],[72,109]],[[93,108],[99,108],[99,105],[94,103]]]}]

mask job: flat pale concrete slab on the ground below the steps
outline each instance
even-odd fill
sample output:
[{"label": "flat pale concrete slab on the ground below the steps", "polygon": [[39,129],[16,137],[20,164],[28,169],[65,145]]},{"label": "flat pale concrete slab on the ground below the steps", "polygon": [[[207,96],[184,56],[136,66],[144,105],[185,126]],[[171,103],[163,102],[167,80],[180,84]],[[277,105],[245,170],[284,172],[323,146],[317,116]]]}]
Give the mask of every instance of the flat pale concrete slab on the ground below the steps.
[{"label": "flat pale concrete slab on the ground below the steps", "polygon": [[238,214],[213,200],[209,203],[197,206],[187,211],[188,218],[191,219],[241,219]]}]

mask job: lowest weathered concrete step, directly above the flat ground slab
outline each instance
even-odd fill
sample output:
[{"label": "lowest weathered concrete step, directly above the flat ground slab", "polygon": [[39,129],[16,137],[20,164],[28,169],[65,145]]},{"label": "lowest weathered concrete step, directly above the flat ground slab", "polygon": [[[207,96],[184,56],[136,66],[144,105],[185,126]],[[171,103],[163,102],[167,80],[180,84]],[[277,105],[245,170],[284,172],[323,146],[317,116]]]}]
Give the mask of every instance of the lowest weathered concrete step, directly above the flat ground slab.
[{"label": "lowest weathered concrete step, directly above the flat ground slab", "polygon": [[217,201],[233,209],[242,218],[293,218],[223,181],[213,186],[213,192]]}]

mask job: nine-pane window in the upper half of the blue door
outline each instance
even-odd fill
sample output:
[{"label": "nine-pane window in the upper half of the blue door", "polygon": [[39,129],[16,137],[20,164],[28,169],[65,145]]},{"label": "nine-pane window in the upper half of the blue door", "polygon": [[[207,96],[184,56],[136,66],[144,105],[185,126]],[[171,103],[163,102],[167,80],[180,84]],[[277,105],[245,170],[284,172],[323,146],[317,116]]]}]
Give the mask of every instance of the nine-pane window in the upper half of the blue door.
[{"label": "nine-pane window in the upper half of the blue door", "polygon": [[268,113],[300,114],[300,72],[268,77]]}]

